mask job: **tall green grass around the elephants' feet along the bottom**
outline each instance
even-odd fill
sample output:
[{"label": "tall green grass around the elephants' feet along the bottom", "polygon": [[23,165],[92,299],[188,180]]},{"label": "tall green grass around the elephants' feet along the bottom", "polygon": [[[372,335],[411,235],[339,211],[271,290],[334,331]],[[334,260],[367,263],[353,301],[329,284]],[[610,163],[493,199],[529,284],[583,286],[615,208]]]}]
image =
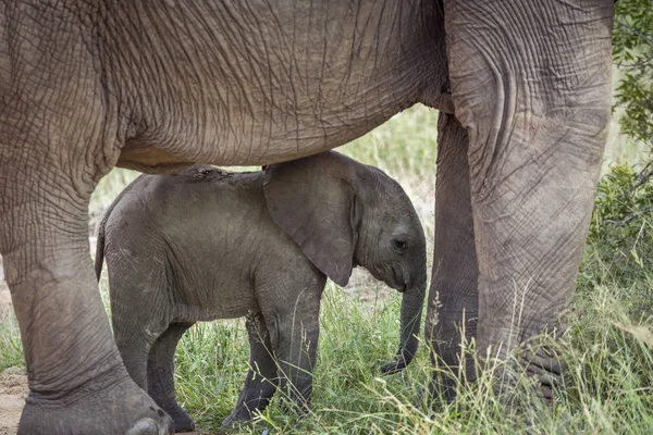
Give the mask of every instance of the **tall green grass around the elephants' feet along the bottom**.
[{"label": "tall green grass around the elephants' feet along the bottom", "polygon": [[[586,259],[591,263],[591,259]],[[601,271],[591,263],[592,268]],[[603,269],[603,274],[609,270]],[[565,377],[551,410],[510,415],[493,395],[485,373],[477,384],[460,385],[460,397],[432,412],[418,399],[431,374],[428,349],[404,373],[380,377],[379,365],[398,340],[399,298],[372,308],[330,285],[324,295],[320,353],[309,415],[284,412],[279,400],[237,433],[412,434],[515,433],[532,422],[533,433],[650,433],[653,431],[653,353],[650,337],[628,314],[628,288],[595,286],[581,279],[569,328],[560,348]],[[648,343],[648,345],[646,345]],[[181,400],[208,431],[237,399],[247,368],[246,335],[241,322],[205,324],[189,332],[177,352]],[[439,369],[444,370],[444,369]],[[520,399],[533,395],[522,376]]]}]

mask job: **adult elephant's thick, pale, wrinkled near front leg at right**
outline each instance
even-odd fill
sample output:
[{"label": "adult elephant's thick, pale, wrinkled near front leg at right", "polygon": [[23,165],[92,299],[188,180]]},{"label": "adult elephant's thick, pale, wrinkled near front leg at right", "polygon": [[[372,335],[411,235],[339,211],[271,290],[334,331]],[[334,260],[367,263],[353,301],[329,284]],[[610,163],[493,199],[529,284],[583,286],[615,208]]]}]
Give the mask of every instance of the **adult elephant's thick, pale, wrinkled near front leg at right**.
[{"label": "adult elephant's thick, pale, wrinkled near front leg at right", "polygon": [[[478,344],[505,359],[559,325],[575,287],[609,120],[613,0],[444,5],[469,134]],[[518,358],[551,397],[557,358]]]}]

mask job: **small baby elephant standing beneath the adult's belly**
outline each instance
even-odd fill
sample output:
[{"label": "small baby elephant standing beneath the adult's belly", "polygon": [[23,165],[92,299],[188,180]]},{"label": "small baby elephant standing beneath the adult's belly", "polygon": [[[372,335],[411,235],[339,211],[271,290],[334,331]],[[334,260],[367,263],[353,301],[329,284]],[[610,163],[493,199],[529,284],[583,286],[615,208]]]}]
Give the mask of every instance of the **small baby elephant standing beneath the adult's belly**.
[{"label": "small baby elephant standing beneath the adult's belly", "polygon": [[261,172],[141,175],[111,204],[97,249],[127,371],[177,432],[194,423],[175,399],[173,357],[198,321],[247,315],[250,370],[223,425],[249,420],[278,386],[307,407],[326,277],[346,285],[356,265],[404,294],[399,350],[382,372],[417,350],[427,282],[417,213],[395,181],[337,152]]}]

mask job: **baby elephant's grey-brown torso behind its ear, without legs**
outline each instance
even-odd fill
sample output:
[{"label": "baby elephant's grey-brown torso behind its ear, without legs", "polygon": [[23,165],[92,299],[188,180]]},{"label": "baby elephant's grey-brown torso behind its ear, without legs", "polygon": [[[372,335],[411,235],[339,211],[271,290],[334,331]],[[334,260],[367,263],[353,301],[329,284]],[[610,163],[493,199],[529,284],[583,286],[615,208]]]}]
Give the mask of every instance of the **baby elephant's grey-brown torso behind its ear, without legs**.
[{"label": "baby elephant's grey-brown torso behind its ear, without legs", "polygon": [[[106,222],[110,269],[174,271],[178,288],[248,287],[258,256],[292,240],[266,208],[261,173],[192,166],[141,175]],[[287,240],[286,240],[287,239]],[[273,243],[274,241],[274,243]]]}]

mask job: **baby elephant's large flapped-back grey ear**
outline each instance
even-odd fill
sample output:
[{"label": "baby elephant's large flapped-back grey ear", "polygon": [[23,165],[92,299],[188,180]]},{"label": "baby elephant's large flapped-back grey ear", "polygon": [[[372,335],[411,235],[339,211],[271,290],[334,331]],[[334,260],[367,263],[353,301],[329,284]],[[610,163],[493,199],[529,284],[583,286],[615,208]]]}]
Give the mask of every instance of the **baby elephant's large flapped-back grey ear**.
[{"label": "baby elephant's large flapped-back grey ear", "polygon": [[337,285],[349,281],[362,204],[349,160],[325,152],[270,164],[263,192],[272,220]]}]

